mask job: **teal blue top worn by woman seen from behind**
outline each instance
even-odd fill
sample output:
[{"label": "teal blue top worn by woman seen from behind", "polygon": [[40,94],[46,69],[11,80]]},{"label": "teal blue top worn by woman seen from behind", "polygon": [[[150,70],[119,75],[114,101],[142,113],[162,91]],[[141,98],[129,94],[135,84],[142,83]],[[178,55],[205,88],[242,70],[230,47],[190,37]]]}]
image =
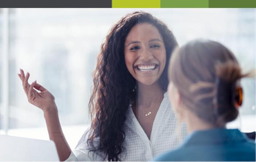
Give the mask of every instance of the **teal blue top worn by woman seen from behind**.
[{"label": "teal blue top worn by woman seen from behind", "polygon": [[153,161],[255,161],[255,142],[238,129],[195,131]]}]

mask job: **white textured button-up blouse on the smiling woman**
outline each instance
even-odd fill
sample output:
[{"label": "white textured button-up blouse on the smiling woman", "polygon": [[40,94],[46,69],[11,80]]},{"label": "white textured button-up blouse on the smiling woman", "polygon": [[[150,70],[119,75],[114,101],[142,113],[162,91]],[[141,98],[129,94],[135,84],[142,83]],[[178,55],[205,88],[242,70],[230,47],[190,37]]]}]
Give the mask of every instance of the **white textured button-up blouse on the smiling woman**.
[{"label": "white textured button-up blouse on the smiling woman", "polygon": [[[123,147],[125,149],[120,154],[120,159],[122,161],[149,161],[167,150],[176,148],[187,134],[185,125],[178,126],[178,123],[167,93],[164,93],[163,101],[156,113],[150,139],[137,121],[131,106],[129,106],[124,124],[125,140]],[[66,161],[104,160],[100,155],[88,151],[86,132]]]}]

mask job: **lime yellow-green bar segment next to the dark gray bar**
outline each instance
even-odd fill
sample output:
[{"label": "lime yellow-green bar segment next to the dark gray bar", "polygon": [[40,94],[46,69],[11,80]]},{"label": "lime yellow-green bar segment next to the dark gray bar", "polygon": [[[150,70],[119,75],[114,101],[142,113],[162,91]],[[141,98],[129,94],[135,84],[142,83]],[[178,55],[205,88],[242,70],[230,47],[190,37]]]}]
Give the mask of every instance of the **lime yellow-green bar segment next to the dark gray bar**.
[{"label": "lime yellow-green bar segment next to the dark gray bar", "polygon": [[160,0],[112,0],[112,8],[160,8]]}]

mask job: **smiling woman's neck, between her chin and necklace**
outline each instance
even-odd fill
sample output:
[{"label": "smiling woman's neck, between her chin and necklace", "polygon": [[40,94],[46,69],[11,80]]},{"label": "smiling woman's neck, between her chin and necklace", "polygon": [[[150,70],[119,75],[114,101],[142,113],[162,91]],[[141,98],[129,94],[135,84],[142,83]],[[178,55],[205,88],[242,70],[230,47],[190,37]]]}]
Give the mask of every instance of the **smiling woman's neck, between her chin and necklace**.
[{"label": "smiling woman's neck, between her chin and necklace", "polygon": [[149,107],[155,104],[162,98],[163,90],[159,83],[154,83],[150,86],[137,83],[137,98],[136,102],[140,106]]}]

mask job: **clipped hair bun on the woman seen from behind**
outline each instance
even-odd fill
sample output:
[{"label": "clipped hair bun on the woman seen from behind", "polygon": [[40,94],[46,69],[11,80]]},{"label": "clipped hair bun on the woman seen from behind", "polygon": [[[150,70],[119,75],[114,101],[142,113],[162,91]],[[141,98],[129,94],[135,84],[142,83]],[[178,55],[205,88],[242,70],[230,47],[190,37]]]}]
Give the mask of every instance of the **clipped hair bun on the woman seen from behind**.
[{"label": "clipped hair bun on the woman seen from behind", "polygon": [[241,68],[235,61],[217,64],[216,67],[216,115],[220,122],[230,122],[238,115],[235,106],[235,90],[239,86],[237,81],[243,77]]}]

